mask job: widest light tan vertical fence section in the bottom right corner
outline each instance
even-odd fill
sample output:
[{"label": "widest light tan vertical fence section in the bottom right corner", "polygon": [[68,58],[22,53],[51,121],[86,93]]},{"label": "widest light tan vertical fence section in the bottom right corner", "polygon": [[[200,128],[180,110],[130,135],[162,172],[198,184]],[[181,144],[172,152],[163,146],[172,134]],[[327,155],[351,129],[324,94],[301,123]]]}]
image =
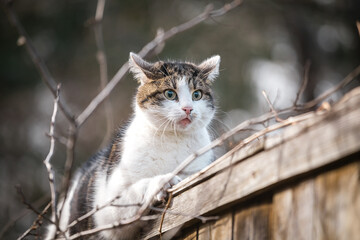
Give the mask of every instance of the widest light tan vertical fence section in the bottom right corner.
[{"label": "widest light tan vertical fence section in the bottom right corner", "polygon": [[274,196],[274,239],[359,239],[360,163]]}]

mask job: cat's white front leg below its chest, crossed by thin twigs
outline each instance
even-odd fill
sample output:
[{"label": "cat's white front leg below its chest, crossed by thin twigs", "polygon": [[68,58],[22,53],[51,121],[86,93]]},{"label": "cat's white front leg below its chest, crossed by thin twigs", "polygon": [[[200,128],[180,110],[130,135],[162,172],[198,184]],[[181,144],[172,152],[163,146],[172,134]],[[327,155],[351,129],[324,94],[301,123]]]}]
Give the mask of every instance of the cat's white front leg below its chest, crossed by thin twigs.
[{"label": "cat's white front leg below its chest, crossed by thin twigs", "polygon": [[[175,176],[166,183],[165,181],[170,177],[170,174],[165,174],[152,178],[143,178],[130,186],[123,185],[121,179],[117,179],[117,184],[115,178],[111,179],[106,192],[99,189],[96,194],[95,203],[97,206],[112,202],[108,207],[99,210],[94,215],[96,227],[126,221],[135,217],[140,206],[145,202],[164,201],[167,197],[166,190],[181,181],[178,176]],[[163,187],[164,182],[165,186]],[[118,186],[117,189],[115,189],[116,185]],[[135,221],[129,225],[103,231],[101,235],[105,239],[135,239],[140,229],[145,225],[147,225],[146,221]]]}]

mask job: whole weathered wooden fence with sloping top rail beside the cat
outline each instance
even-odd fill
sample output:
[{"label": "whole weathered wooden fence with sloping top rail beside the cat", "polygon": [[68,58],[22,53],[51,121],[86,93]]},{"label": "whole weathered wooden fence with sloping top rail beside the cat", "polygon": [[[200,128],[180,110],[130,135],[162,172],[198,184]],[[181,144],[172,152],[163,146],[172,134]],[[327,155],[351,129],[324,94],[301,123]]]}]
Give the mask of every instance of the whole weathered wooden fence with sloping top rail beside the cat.
[{"label": "whole weathered wooden fence with sloping top rail beside the cat", "polygon": [[307,115],[180,183],[162,239],[360,239],[360,88]]}]

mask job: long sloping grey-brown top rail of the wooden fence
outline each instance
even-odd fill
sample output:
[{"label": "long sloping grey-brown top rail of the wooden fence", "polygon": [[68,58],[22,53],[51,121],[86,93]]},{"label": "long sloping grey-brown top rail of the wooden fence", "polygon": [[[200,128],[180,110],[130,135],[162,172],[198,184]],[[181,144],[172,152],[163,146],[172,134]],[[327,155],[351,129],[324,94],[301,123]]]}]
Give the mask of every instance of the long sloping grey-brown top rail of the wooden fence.
[{"label": "long sloping grey-brown top rail of the wooden fence", "polygon": [[[241,201],[272,185],[333,163],[360,149],[360,94],[353,96],[332,111],[312,120],[298,136],[287,139],[231,168],[219,171],[206,181],[173,199],[171,210],[186,215],[165,216],[167,231],[230,203]],[[236,162],[236,159],[234,159]],[[148,236],[157,235],[156,230]]]}]

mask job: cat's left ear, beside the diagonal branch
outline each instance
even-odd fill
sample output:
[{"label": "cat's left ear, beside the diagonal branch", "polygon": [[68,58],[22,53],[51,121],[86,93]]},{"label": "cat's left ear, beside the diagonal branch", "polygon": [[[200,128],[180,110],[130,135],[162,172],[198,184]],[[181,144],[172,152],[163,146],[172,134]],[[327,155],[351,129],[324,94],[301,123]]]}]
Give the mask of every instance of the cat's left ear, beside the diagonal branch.
[{"label": "cat's left ear, beside the diagonal branch", "polygon": [[135,53],[130,53],[129,58],[130,72],[134,74],[135,79],[142,85],[149,81],[153,75],[154,66],[142,59]]}]

